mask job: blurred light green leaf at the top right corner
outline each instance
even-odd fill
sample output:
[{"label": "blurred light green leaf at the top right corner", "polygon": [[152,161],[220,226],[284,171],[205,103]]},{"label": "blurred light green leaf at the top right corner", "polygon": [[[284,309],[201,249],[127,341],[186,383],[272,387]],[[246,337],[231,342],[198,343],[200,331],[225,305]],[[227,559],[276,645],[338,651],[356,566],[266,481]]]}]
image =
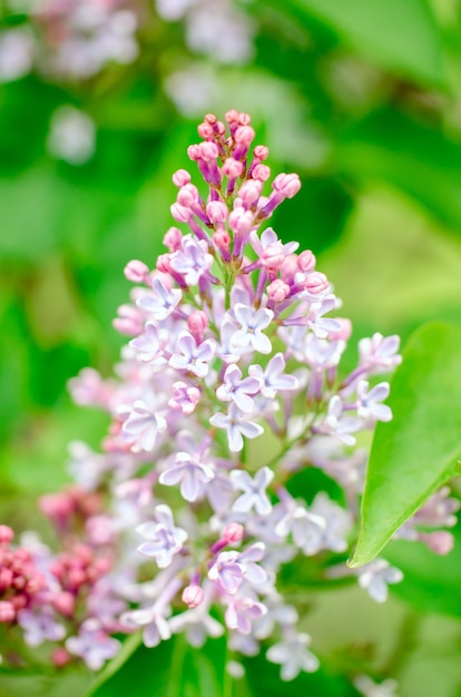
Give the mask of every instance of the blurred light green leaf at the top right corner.
[{"label": "blurred light green leaf at the top right corner", "polygon": [[422,85],[447,86],[443,41],[425,0],[291,0],[360,53]]}]

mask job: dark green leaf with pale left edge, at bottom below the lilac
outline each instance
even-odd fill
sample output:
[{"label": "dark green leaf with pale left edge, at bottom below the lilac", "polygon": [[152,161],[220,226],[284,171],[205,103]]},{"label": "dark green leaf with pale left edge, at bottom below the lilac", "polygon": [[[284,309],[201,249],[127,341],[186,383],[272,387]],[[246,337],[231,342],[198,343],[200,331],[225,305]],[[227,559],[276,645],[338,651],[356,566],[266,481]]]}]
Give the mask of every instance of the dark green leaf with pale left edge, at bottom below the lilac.
[{"label": "dark green leaf with pale left edge, at bottom below the lilac", "polygon": [[226,640],[209,640],[203,649],[185,637],[146,648],[139,636],[125,642],[119,656],[101,673],[87,697],[225,697]]}]

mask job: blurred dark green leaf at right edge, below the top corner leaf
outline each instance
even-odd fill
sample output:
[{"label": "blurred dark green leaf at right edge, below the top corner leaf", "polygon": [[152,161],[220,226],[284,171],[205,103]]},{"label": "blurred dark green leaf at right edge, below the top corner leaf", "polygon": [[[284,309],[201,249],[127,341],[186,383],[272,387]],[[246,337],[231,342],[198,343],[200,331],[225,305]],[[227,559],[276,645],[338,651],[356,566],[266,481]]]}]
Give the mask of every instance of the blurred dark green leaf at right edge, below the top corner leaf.
[{"label": "blurred dark green leaf at right edge, below the top corner leaf", "polygon": [[335,158],[347,176],[390,183],[461,229],[461,145],[434,128],[382,109],[341,134]]}]

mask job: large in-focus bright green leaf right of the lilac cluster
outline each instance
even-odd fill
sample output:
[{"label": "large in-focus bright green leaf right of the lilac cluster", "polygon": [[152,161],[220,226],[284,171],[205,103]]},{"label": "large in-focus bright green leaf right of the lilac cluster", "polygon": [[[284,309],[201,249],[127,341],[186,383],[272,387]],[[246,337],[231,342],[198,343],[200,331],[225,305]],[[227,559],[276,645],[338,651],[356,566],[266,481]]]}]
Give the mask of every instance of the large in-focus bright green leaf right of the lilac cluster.
[{"label": "large in-focus bright green leaf right of the lilac cluster", "polygon": [[403,351],[390,423],[379,423],[351,567],[371,561],[392,534],[457,473],[461,457],[461,328],[433,322]]}]

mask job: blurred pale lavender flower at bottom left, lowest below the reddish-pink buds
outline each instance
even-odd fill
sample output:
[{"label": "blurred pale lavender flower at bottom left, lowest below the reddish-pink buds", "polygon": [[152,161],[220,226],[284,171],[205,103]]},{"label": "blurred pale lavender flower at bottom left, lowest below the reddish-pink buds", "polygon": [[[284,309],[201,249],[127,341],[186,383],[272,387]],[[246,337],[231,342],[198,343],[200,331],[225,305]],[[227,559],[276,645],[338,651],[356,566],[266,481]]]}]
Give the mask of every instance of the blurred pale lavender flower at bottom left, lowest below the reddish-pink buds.
[{"label": "blurred pale lavender flower at bottom left, lowest below the reddish-pink buds", "polygon": [[99,670],[106,660],[114,658],[121,644],[107,636],[99,620],[90,618],[81,625],[77,637],[66,640],[66,648],[70,654],[80,656],[90,670]]}]

